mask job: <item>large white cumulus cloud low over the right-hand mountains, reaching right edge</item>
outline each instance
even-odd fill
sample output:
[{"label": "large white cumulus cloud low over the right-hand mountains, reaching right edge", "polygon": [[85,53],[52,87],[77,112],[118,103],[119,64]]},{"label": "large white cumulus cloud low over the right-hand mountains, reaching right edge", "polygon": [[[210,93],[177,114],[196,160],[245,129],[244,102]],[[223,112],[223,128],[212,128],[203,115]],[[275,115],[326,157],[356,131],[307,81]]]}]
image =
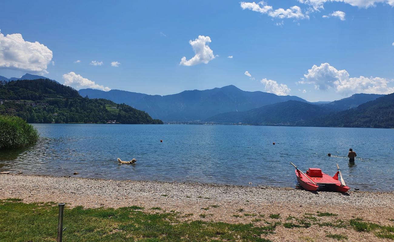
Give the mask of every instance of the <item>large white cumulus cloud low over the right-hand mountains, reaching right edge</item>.
[{"label": "large white cumulus cloud low over the right-hand mountains, reaching right edge", "polygon": [[323,91],[334,89],[335,92],[341,94],[355,92],[389,94],[394,92],[394,87],[388,87],[388,84],[393,80],[364,76],[350,78],[346,70],[337,70],[329,63],[323,63],[320,66],[314,65],[304,76],[305,79],[299,83],[313,84],[315,89]]}]

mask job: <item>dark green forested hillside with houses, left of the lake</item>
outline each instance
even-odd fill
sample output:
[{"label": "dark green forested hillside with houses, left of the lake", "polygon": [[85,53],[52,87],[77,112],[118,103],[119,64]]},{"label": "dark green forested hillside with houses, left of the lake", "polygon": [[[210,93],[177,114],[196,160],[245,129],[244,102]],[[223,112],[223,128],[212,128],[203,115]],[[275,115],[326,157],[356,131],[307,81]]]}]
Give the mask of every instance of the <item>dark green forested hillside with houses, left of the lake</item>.
[{"label": "dark green forested hillside with houses, left of the lake", "polygon": [[0,84],[0,113],[17,115],[29,123],[163,123],[126,104],[84,98],[75,89],[48,79]]}]

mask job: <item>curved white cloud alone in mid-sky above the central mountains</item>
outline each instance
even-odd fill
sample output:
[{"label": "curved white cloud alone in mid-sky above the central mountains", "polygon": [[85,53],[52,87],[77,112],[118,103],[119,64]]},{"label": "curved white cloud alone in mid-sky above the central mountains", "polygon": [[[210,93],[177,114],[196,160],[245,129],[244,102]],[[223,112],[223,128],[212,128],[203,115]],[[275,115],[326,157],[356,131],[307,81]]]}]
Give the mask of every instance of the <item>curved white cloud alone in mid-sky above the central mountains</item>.
[{"label": "curved white cloud alone in mid-sky above the central mountains", "polygon": [[208,43],[211,42],[211,38],[209,36],[199,35],[198,39],[194,41],[189,41],[191,48],[195,55],[190,59],[186,60],[186,57],[182,57],[179,65],[184,66],[193,66],[201,63],[208,64],[211,60],[215,59],[214,52],[209,48]]}]

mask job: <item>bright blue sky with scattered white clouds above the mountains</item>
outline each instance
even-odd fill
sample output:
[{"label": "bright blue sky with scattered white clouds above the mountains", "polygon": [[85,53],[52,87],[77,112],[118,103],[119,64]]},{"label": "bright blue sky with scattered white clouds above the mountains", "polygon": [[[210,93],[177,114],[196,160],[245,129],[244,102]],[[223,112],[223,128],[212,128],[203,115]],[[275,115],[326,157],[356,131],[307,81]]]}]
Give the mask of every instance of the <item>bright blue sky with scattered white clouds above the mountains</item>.
[{"label": "bright blue sky with scattered white clouds above the mountains", "polygon": [[[393,6],[392,0],[5,1],[0,75],[29,72],[76,89],[160,95],[225,85],[309,101],[394,92]],[[288,11],[280,15],[280,8]],[[46,46],[33,53],[45,57],[23,60],[30,49],[4,44],[16,33]],[[194,52],[189,41],[200,35]],[[199,61],[190,61],[196,54]]]}]

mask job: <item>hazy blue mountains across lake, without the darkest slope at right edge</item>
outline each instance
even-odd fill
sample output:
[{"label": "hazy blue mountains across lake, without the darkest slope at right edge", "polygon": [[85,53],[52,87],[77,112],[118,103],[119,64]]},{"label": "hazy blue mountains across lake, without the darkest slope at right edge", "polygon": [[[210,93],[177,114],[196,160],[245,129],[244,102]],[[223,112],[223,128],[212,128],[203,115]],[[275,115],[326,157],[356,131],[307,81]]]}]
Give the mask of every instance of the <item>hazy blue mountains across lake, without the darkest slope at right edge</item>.
[{"label": "hazy blue mountains across lake, without the darkest slope at right edge", "polygon": [[[375,100],[384,95],[379,94],[353,94],[348,98],[334,102],[307,102],[297,96],[278,96],[267,92],[242,91],[234,85],[208,90],[183,91],[177,94],[160,96],[148,95],[138,92],[121,90],[101,91],[97,89],[81,89],[81,96],[89,98],[105,98],[115,103],[126,103],[136,109],[149,113],[153,118],[159,118],[165,122],[219,122],[219,123],[293,123],[295,120],[307,120],[329,112],[343,111],[357,107],[358,105]],[[297,101],[282,104],[283,110],[288,110],[289,115],[272,112],[271,108],[279,108],[281,105],[273,105],[287,101]],[[309,104],[303,105],[302,103]],[[293,110],[294,106],[301,112]],[[309,111],[308,111],[309,110]],[[271,112],[271,118],[263,114]],[[287,117],[285,120],[274,118]],[[290,118],[291,114],[294,114]],[[244,115],[244,116],[243,116]],[[253,117],[260,115],[260,117]]]}]

